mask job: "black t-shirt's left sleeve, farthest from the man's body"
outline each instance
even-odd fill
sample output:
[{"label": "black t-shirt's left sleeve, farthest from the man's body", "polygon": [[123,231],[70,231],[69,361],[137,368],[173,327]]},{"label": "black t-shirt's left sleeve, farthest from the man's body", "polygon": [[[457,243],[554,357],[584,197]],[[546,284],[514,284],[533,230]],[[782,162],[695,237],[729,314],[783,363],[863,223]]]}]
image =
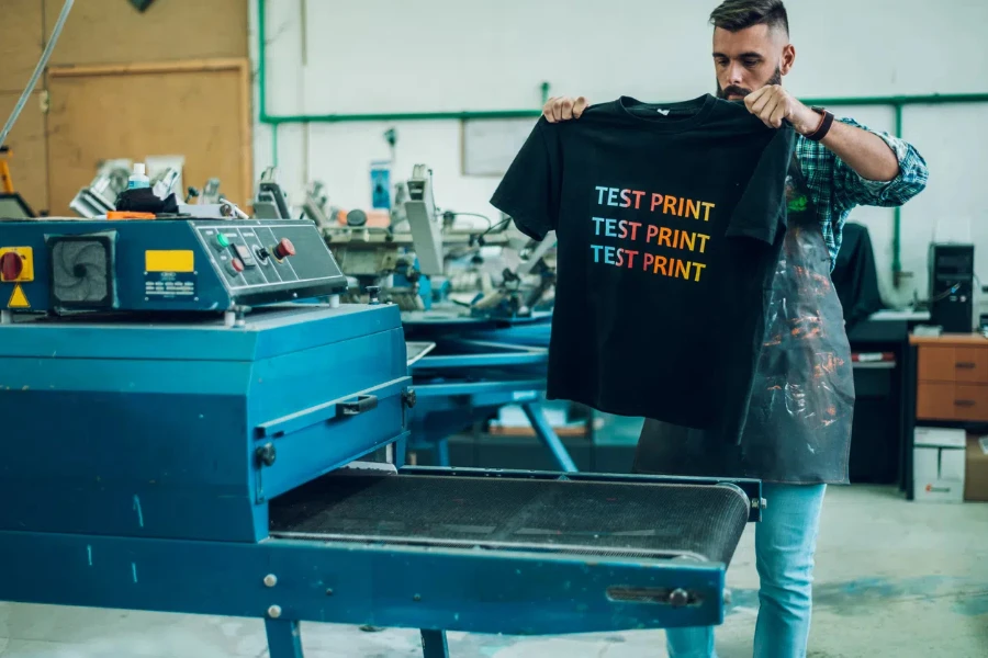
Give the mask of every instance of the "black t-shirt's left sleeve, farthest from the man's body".
[{"label": "black t-shirt's left sleeve, farthest from the man's body", "polygon": [[491,205],[526,236],[542,240],[559,222],[561,167],[558,135],[539,118],[491,197]]}]

